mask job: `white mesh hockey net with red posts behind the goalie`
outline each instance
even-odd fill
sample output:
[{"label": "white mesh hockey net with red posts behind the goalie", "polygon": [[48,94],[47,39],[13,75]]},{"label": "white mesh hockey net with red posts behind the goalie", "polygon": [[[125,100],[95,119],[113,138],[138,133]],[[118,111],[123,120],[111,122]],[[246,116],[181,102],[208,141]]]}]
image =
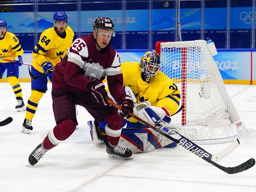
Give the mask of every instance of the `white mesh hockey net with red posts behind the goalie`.
[{"label": "white mesh hockey net with red posts behind the goalie", "polygon": [[180,89],[171,128],[200,144],[235,140],[245,130],[206,41],[157,42],[161,70]]}]

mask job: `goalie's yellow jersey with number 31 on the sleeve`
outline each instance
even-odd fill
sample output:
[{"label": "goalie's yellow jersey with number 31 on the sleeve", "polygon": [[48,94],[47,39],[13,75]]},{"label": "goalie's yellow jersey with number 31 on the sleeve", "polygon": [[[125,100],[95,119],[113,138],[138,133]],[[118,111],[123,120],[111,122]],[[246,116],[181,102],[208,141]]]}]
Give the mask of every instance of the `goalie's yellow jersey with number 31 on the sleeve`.
[{"label": "goalie's yellow jersey with number 31 on the sleeve", "polygon": [[[140,63],[124,62],[121,64],[124,76],[123,86],[129,86],[137,99],[137,104],[149,101],[152,106],[166,107],[170,114],[178,110],[180,91],[174,82],[164,73],[158,71],[150,83],[141,78]],[[130,122],[137,122],[131,118]]]}]

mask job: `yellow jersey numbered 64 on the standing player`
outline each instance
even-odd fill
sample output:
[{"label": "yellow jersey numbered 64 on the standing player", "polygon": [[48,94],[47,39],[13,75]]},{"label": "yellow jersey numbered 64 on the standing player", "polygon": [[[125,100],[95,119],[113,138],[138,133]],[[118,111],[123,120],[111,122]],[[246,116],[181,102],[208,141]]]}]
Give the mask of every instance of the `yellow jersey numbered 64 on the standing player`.
[{"label": "yellow jersey numbered 64 on the standing player", "polygon": [[70,48],[73,42],[73,38],[74,32],[69,26],[66,28],[65,38],[58,36],[54,27],[44,30],[32,52],[32,66],[41,73],[44,72],[41,67],[43,62],[49,61],[54,67],[66,55],[68,48]]}]

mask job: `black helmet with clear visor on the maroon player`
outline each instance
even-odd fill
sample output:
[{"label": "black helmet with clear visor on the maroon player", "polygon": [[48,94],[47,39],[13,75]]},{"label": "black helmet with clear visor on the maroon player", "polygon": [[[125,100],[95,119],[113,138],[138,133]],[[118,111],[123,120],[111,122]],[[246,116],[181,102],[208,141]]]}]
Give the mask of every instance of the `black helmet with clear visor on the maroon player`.
[{"label": "black helmet with clear visor on the maroon player", "polygon": [[96,33],[98,33],[98,29],[107,29],[112,30],[112,37],[116,35],[116,32],[114,30],[114,23],[112,20],[108,17],[97,17],[96,20],[93,23],[92,28],[95,30]]}]

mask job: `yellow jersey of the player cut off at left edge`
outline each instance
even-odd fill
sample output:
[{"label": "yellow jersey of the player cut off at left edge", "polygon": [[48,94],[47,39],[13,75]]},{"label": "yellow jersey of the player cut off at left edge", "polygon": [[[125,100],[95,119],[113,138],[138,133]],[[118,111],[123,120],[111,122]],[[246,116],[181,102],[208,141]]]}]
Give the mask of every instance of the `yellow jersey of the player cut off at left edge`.
[{"label": "yellow jersey of the player cut off at left edge", "polygon": [[[22,56],[23,52],[18,37],[7,31],[4,38],[0,40],[0,57],[14,60],[16,56]],[[1,60],[0,62],[7,63],[8,61]]]}]

